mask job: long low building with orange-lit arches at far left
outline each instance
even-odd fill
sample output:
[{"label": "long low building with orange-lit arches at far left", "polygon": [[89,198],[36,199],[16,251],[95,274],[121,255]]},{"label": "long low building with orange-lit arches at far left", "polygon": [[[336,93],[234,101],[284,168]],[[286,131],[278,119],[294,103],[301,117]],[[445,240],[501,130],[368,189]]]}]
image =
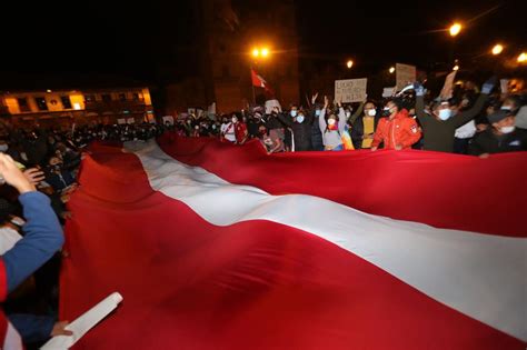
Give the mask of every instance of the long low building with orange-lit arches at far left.
[{"label": "long low building with orange-lit arches at far left", "polygon": [[148,88],[0,92],[0,118],[31,128],[155,119]]}]

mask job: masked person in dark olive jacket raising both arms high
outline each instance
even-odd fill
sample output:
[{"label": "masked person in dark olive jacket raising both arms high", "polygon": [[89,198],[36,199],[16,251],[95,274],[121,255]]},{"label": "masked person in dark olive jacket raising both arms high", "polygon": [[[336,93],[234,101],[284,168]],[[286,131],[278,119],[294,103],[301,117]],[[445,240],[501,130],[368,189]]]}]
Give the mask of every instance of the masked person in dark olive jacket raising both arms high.
[{"label": "masked person in dark olive jacket raising both arms high", "polygon": [[436,104],[431,116],[425,113],[425,88],[421,83],[415,82],[416,91],[416,114],[422,128],[424,149],[438,152],[454,152],[454,138],[456,129],[466,124],[477,117],[485,107],[488,94],[494,89],[496,79],[491,78],[484,83],[481,93],[476,103],[467,111],[457,112],[456,106],[448,101]]}]

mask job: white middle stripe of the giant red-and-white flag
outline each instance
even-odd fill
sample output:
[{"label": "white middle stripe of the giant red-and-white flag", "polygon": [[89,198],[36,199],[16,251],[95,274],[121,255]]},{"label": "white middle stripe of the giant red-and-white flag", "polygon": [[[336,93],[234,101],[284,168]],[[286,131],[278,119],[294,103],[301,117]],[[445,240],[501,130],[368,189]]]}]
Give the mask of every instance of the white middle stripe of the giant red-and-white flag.
[{"label": "white middle stripe of the giant red-and-white flag", "polygon": [[126,151],[139,157],[152,189],[212,224],[269,220],[310,232],[453,309],[527,340],[525,238],[437,229],[312,196],[271,196],[181,163],[153,141],[128,142]]}]

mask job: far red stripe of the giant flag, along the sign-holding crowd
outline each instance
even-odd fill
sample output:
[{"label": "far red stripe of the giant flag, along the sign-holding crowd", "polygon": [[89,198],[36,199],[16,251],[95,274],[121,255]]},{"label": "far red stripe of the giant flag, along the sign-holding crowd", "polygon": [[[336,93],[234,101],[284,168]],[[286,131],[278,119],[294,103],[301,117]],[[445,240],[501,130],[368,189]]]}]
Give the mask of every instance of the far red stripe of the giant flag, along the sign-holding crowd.
[{"label": "far red stripe of the giant flag, along the sign-holding crowd", "polygon": [[427,151],[304,152],[268,157],[258,141],[233,147],[166,134],[165,152],[271,194],[305,193],[437,228],[527,237],[527,153],[489,159]]}]

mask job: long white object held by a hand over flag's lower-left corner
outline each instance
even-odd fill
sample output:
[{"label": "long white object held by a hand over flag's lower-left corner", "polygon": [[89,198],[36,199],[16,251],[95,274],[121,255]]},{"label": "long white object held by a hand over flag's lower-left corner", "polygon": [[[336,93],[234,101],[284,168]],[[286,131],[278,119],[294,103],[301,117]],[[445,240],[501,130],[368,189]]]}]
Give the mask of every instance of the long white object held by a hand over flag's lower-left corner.
[{"label": "long white object held by a hand over flag's lower-left corner", "polygon": [[122,296],[118,292],[111,293],[97,306],[84,312],[77,320],[66,327],[73,332],[73,336],[57,336],[51,338],[41,350],[66,350],[72,347],[90,329],[96,327],[122,301]]}]

